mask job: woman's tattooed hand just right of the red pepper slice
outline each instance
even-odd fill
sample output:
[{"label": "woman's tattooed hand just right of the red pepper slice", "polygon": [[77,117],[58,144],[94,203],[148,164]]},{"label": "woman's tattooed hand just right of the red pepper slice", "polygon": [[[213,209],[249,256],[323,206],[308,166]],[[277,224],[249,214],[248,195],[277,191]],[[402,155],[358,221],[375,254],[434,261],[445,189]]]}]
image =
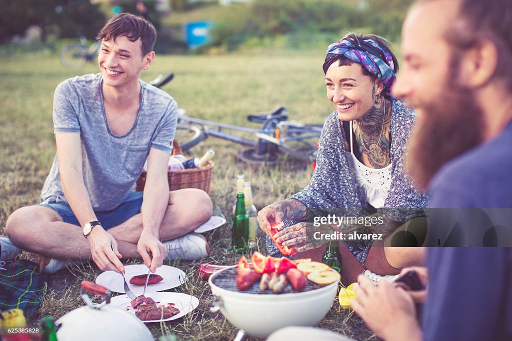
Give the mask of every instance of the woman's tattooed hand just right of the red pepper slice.
[{"label": "woman's tattooed hand just right of the red pepper slice", "polygon": [[313,223],[298,223],[283,228],[278,233],[275,233],[274,237],[276,242],[290,248],[294,247],[297,252],[302,252],[315,249],[327,243],[325,239],[314,239],[314,232],[328,233],[327,226],[314,227]]}]

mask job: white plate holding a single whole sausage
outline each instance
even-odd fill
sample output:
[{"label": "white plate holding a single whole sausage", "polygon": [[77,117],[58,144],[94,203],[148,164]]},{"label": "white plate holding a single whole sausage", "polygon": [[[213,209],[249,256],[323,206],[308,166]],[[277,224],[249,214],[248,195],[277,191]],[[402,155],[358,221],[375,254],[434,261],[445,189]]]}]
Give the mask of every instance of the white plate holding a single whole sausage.
[{"label": "white plate holding a single whole sausage", "polygon": [[[133,293],[136,295],[141,295],[142,291],[144,291],[144,286],[130,284],[130,279],[136,275],[146,275],[149,269],[144,264],[135,264],[125,265],[124,270],[124,277],[128,282],[130,290],[132,290]],[[161,267],[157,268],[155,274],[162,276],[163,281],[160,281],[155,284],[148,284],[146,288],[146,293],[172,289],[185,282],[185,272],[172,266],[162,265]],[[120,273],[117,273],[115,271],[105,271],[101,273],[96,278],[95,282],[96,284],[104,286],[110,291],[124,293],[123,277],[121,276]]]}]

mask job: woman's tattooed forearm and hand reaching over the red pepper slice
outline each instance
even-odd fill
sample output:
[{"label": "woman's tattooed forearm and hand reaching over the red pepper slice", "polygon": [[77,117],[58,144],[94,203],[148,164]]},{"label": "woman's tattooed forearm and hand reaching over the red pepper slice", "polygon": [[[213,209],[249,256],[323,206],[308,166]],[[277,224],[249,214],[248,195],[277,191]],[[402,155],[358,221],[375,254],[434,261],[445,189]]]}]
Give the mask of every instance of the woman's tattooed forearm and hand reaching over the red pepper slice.
[{"label": "woman's tattooed forearm and hand reaching over the red pepper slice", "polygon": [[276,201],[258,212],[260,228],[270,228],[270,222],[281,223],[283,220],[311,221],[314,213],[302,202],[289,199]]}]

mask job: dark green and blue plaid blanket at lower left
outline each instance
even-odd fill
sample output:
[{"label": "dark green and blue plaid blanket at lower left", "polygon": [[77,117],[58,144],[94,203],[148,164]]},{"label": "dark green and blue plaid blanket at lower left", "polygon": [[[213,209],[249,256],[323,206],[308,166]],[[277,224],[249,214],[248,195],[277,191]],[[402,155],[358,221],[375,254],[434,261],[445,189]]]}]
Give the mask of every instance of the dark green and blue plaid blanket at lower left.
[{"label": "dark green and blue plaid blanket at lower left", "polygon": [[27,260],[9,262],[0,269],[0,310],[22,309],[27,319],[36,312],[45,292],[46,274]]}]

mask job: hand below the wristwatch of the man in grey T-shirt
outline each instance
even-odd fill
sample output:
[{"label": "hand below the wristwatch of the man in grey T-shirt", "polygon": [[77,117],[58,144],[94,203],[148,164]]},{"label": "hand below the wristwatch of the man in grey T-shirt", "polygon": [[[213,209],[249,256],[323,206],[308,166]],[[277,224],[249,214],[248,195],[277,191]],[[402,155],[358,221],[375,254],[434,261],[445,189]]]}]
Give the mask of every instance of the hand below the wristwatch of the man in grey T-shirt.
[{"label": "hand below the wristwatch of the man in grey T-shirt", "polygon": [[87,240],[91,247],[93,261],[100,270],[124,272],[124,266],[119,261],[122,256],[117,249],[117,242],[109,232],[99,225],[95,226]]}]

